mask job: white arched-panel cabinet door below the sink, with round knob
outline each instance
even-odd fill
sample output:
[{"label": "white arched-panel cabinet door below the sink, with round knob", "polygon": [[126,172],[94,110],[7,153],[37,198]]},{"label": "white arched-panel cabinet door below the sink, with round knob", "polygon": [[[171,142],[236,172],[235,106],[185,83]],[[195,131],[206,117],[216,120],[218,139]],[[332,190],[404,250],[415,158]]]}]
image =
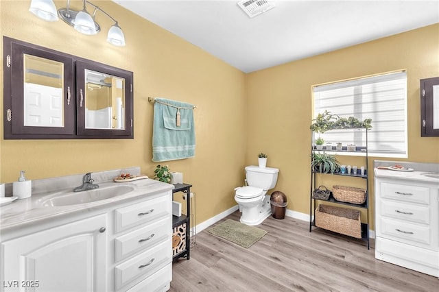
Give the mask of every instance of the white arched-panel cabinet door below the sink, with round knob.
[{"label": "white arched-panel cabinet door below the sink, with round knob", "polygon": [[3,291],[106,291],[106,215],[1,243]]}]

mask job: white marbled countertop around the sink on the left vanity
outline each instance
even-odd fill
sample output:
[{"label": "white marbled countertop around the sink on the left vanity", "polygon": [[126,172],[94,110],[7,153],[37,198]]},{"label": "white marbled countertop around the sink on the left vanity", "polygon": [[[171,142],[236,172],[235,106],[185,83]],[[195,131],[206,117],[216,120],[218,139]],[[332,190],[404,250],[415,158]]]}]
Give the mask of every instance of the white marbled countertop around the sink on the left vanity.
[{"label": "white marbled countertop around the sink on the left vanity", "polygon": [[7,228],[18,228],[27,223],[38,223],[38,221],[46,219],[54,220],[61,216],[78,215],[109,208],[113,205],[130,202],[174,188],[172,184],[165,184],[164,182],[152,179],[136,180],[133,182],[102,182],[99,183],[99,187],[104,188],[114,184],[132,186],[134,190],[125,195],[109,199],[69,206],[43,206],[43,198],[51,195],[51,193],[40,193],[32,195],[32,197],[27,199],[16,199],[10,204],[0,206],[0,231],[4,231]]}]

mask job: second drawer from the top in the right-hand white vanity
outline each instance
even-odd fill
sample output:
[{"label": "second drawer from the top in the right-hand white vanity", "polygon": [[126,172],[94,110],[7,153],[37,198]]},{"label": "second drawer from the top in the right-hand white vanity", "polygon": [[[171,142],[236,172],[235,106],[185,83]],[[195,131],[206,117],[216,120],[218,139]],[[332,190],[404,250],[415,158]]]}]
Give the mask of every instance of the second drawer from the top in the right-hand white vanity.
[{"label": "second drawer from the top in the right-hand white vanity", "polygon": [[380,215],[416,223],[430,223],[429,206],[397,203],[381,199]]}]

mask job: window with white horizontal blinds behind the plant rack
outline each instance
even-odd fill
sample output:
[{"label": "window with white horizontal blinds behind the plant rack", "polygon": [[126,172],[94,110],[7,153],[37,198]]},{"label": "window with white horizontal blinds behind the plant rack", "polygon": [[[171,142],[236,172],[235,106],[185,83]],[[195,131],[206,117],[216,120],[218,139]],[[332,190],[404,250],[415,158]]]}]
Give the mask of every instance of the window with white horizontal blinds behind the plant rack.
[{"label": "window with white horizontal blinds behind the plant rack", "polygon": [[[313,86],[313,117],[327,110],[340,117],[372,119],[369,156],[407,158],[407,73],[399,71]],[[365,145],[366,131],[333,130],[325,141]]]}]

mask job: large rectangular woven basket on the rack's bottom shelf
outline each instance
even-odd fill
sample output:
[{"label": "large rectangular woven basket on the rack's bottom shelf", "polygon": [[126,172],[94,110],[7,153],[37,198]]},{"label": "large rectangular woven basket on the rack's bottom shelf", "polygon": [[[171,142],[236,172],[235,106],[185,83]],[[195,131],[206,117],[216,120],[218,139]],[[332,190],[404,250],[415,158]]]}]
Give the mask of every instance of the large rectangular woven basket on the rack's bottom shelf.
[{"label": "large rectangular woven basket on the rack's bottom shelf", "polygon": [[361,239],[359,210],[320,204],[315,217],[317,227]]}]

